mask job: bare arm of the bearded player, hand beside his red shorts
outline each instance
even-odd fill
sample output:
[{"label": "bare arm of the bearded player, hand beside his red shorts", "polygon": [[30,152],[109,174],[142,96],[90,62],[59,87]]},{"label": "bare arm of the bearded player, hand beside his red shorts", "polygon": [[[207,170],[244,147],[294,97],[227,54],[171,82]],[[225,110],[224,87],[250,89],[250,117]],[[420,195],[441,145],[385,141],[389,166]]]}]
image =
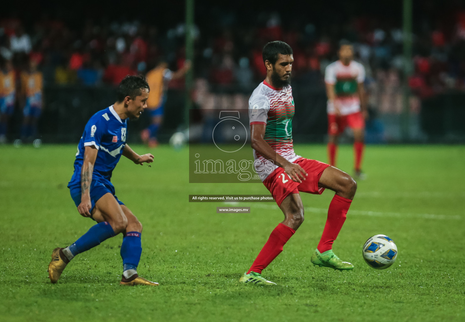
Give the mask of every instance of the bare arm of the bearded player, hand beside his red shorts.
[{"label": "bare arm of the bearded player, hand beside his red shorts", "polygon": [[273,148],[266,143],[265,136],[266,125],[264,124],[252,124],[250,125],[250,136],[252,149],[259,152],[260,155],[272,163],[280,166],[284,169],[284,172],[295,182],[302,183],[302,180],[306,179],[307,173],[299,164],[295,164],[287,161],[279,153],[273,150]]}]

